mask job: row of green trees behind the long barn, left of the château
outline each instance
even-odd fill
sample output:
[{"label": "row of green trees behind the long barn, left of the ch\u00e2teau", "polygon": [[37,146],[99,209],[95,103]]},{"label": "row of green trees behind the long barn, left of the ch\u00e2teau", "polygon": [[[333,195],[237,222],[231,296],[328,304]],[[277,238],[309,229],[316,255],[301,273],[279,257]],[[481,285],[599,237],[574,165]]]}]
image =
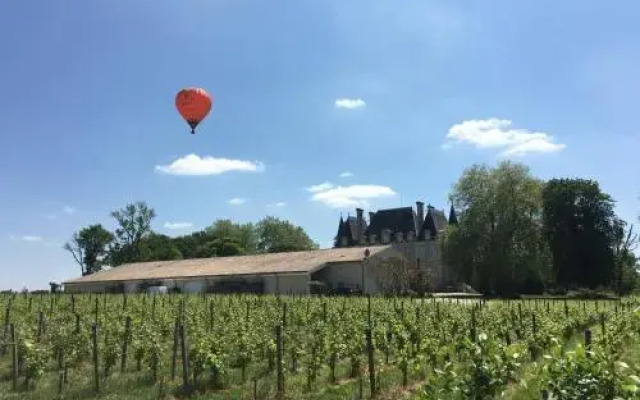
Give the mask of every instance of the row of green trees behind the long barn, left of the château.
[{"label": "row of green trees behind the long barn, left of the ch\u00e2teau", "polygon": [[313,250],[313,242],[299,226],[267,216],[257,223],[235,223],[219,219],[187,235],[169,237],[151,225],[156,212],[145,202],[127,204],[111,213],[117,228],[112,232],[102,224],[75,232],[64,249],[80,266],[82,275],[105,267],[143,261],[224,257],[244,254]]}]

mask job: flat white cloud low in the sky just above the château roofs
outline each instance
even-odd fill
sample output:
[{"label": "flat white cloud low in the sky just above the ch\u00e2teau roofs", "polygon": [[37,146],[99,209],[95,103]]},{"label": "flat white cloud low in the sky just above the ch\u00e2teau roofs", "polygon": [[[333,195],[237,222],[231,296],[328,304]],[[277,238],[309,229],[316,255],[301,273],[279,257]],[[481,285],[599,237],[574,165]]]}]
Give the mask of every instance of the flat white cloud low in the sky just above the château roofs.
[{"label": "flat white cloud low in the sky just above the ch\u00e2teau roofs", "polygon": [[367,207],[369,199],[395,196],[396,192],[388,186],[350,185],[334,186],[325,182],[312,186],[311,200],[321,202],[331,208]]}]

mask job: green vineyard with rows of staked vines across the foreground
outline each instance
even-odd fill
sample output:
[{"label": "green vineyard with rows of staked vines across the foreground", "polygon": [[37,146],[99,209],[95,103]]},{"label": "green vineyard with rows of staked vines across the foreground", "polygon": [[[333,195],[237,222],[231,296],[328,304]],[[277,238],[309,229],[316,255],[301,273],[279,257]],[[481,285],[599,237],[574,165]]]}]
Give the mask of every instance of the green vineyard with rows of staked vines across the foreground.
[{"label": "green vineyard with rows of staked vines across the foreground", "polygon": [[639,304],[6,295],[0,399],[640,399]]}]

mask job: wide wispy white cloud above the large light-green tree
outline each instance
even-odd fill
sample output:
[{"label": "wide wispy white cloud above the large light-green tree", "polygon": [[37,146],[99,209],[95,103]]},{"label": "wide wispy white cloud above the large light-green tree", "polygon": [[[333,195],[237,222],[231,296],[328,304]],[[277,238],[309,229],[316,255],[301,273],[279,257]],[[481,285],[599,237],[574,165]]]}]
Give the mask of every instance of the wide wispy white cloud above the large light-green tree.
[{"label": "wide wispy white cloud above the large light-green tree", "polygon": [[503,156],[522,156],[531,153],[552,153],[566,146],[556,143],[545,132],[532,132],[511,127],[512,121],[490,118],[467,120],[449,128],[443,144],[448,149],[453,143],[468,143],[480,149],[502,149]]}]

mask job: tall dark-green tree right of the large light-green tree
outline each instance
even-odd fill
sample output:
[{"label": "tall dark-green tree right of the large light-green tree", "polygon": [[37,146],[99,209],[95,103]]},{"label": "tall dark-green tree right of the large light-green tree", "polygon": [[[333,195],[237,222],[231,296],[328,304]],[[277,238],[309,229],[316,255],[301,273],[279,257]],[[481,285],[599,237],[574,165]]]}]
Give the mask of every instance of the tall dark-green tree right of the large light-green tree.
[{"label": "tall dark-green tree right of the large light-green tree", "polygon": [[612,283],[618,222],[611,196],[596,181],[552,179],[543,204],[558,284],[596,288]]}]

